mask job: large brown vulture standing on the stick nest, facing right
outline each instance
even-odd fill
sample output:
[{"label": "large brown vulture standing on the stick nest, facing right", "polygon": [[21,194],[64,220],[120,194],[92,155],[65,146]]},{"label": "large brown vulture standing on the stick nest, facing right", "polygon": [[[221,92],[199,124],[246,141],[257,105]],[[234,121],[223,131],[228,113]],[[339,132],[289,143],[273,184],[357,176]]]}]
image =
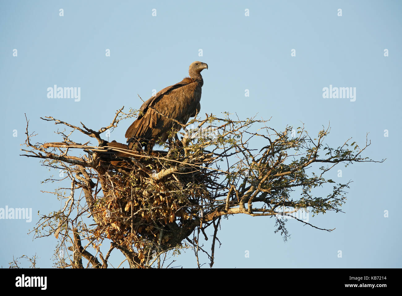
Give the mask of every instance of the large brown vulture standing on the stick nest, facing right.
[{"label": "large brown vulture standing on the stick nest, facing right", "polygon": [[208,65],[193,62],[189,77],[165,87],[142,104],[138,118],[125,132],[130,149],[139,143],[150,153],[156,142],[166,142],[170,131],[176,133],[182,128],[178,122],[186,124],[190,117],[197,116],[201,108],[203,69],[208,69]]}]

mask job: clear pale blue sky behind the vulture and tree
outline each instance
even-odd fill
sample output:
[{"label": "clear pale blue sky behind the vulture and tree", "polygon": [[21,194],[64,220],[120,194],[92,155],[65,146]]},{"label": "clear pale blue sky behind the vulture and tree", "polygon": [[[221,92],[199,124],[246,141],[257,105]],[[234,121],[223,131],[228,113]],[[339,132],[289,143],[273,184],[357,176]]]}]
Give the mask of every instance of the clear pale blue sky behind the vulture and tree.
[{"label": "clear pale blue sky behind the vulture and tree", "polygon": [[[272,116],[275,129],[304,122],[310,133],[330,121],[329,145],[349,137],[363,144],[369,132],[372,145],[365,156],[387,158],[383,164],[339,167],[342,180],[337,180],[338,168],[328,175],[337,182],[353,180],[346,213],[310,217],[318,227],[336,228],[333,232],[289,221],[291,239],[283,242],[273,233],[274,219],[234,215],[223,220],[214,267],[402,267],[401,3],[0,1],[0,208],[32,208],[34,215],[31,223],[0,220],[0,266],[8,267],[13,255],[36,253],[39,267],[51,267],[57,243],[54,236],[33,240],[27,235],[37,212],[57,210],[60,201],[40,192],[59,185],[41,184],[54,172],[37,159],[18,156],[25,140],[24,113],[30,130],[39,133],[35,141],[60,141],[53,133],[57,126],[39,117],[98,129],[121,106],[139,108],[137,94],[148,99],[152,89],[180,81],[189,64],[201,60],[209,66],[202,73],[202,114],[228,111],[246,118],[258,112]],[[54,84],[80,87],[81,100],[47,98],[47,87]],[[356,87],[356,101],[324,99],[322,89],[329,85]],[[129,124],[121,122],[111,138],[124,142]],[[174,265],[196,266],[190,250],[175,259]]]}]

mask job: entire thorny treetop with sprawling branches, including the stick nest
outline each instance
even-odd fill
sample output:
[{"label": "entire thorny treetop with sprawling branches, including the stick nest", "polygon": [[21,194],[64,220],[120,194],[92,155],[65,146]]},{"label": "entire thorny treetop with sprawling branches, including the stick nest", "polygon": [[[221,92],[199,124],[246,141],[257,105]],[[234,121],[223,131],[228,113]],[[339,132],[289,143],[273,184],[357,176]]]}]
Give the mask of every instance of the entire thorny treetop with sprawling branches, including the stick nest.
[{"label": "entire thorny treetop with sprawling branches, including the stick nest", "polygon": [[[37,237],[54,235],[60,239],[59,250],[72,251],[67,259],[60,258],[58,267],[83,267],[84,257],[88,265],[105,268],[114,249],[123,253],[129,267],[152,267],[154,263],[162,267],[166,254],[181,248],[193,248],[199,267],[198,252],[205,253],[212,266],[222,217],[238,213],[274,217],[275,232],[286,239],[285,217],[301,209],[313,214],[341,211],[350,181],[335,184],[324,178],[326,172],[339,163],[373,161],[361,157],[369,141],[363,148],[350,139],[336,149],[325,145],[329,127],[312,139],[304,127],[277,132],[266,125],[268,120],[233,120],[228,113],[223,118],[206,114],[205,119],[192,120],[182,126],[184,132],[175,135],[174,144],[162,143],[166,149],[147,154],[101,137],[136,114],[122,110],[109,126],[98,130],[82,122],[79,127],[50,116],[42,118],[65,127],[57,131],[62,142],[31,143],[36,135],[29,134],[27,120],[25,156],[42,159],[44,166],[66,174],[60,180],[71,181],[70,195],[53,192],[65,201],[64,207],[42,215],[35,228]],[[98,145],[73,141],[73,132],[95,139]],[[251,143],[258,141],[264,147],[252,149]],[[308,173],[315,163],[320,164],[317,172]],[[313,188],[326,183],[333,183],[330,194],[312,194]],[[299,197],[294,197],[296,188]],[[207,252],[200,233],[208,240],[210,226],[211,252]],[[100,248],[105,240],[111,242],[106,255]]]}]

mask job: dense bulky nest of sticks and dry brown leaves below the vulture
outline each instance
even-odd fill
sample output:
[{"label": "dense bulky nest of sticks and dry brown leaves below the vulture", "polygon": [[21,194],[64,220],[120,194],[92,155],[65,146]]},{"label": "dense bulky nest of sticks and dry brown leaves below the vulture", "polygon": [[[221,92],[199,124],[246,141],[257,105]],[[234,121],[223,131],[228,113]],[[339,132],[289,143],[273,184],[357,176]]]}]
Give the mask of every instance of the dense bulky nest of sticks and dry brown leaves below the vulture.
[{"label": "dense bulky nest of sticks and dry brown leaves below the vulture", "polygon": [[[154,152],[157,158],[136,156],[139,159],[134,161],[117,157],[123,170],[109,166],[102,176],[98,171],[89,173],[101,187],[100,191],[96,190],[93,184],[95,192],[102,193],[101,196],[92,194],[95,201],[92,212],[99,221],[95,237],[113,238],[131,252],[135,248],[140,263],[150,253],[154,255],[181,245],[183,238],[191,234],[194,219],[201,217],[203,205],[211,202],[205,186],[210,177],[201,168],[205,163],[193,161],[191,166],[182,166],[180,172],[175,170],[169,174],[171,164],[175,163],[169,160],[180,157],[170,155],[172,159],[166,160],[164,154]],[[105,162],[103,153],[94,157],[100,163]],[[158,176],[161,172],[166,176]],[[187,233],[177,233],[185,229]]]}]

